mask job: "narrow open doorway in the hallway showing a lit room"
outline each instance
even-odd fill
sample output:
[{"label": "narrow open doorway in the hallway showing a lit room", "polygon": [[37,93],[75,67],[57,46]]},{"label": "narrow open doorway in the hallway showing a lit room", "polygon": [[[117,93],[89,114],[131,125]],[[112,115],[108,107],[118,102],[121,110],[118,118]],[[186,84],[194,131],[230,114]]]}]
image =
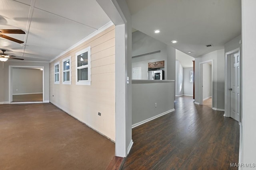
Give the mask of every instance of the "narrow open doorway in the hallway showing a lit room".
[{"label": "narrow open doorway in the hallway showing a lit room", "polygon": [[212,60],[199,63],[200,105],[212,108]]}]

